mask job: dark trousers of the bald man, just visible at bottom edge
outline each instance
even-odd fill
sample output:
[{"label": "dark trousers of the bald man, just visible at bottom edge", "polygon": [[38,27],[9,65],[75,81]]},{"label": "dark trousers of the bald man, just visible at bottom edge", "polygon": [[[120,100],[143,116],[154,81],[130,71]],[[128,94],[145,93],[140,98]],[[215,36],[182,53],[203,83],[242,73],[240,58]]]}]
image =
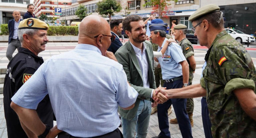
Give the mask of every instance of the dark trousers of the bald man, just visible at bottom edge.
[{"label": "dark trousers of the bald man, just visible at bottom edge", "polygon": [[[71,136],[67,132],[60,132],[58,134],[58,138],[81,138],[81,137],[76,137],[76,136]],[[88,138],[85,136],[85,138]],[[101,135],[101,136],[95,136],[91,138],[124,138],[122,132],[116,128],[116,130],[109,132],[107,134]]]}]

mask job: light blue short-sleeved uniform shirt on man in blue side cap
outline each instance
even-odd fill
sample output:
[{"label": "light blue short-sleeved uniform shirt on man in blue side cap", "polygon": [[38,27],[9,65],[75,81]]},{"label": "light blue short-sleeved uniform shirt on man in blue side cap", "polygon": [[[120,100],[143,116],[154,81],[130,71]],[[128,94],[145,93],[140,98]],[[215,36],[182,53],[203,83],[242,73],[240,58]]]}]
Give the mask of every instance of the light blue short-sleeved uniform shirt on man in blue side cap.
[{"label": "light blue short-sleeved uniform shirt on man in blue side cap", "polygon": [[[162,47],[164,46],[166,40],[167,38],[164,39]],[[159,52],[161,48],[158,47],[157,51]],[[158,62],[162,69],[162,78],[164,80],[168,80],[182,76],[182,66],[179,63],[184,60],[186,60],[186,58],[182,53],[180,45],[177,43],[171,43],[166,49],[164,56],[158,57]]]}]

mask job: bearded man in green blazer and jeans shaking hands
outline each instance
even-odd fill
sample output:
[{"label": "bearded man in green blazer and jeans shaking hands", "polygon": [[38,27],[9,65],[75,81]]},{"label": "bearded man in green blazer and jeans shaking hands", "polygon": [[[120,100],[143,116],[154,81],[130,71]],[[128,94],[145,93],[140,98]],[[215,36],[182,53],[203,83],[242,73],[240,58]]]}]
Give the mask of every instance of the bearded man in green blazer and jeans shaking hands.
[{"label": "bearded man in green blazer and jeans shaking hands", "polygon": [[[146,40],[145,24],[138,15],[127,16],[123,28],[129,41],[120,47],[116,59],[123,65],[127,80],[139,95],[131,110],[118,109],[122,120],[124,138],[146,138],[151,113],[152,97],[155,97],[154,57],[152,44]],[[122,78],[120,78],[122,79]]]}]

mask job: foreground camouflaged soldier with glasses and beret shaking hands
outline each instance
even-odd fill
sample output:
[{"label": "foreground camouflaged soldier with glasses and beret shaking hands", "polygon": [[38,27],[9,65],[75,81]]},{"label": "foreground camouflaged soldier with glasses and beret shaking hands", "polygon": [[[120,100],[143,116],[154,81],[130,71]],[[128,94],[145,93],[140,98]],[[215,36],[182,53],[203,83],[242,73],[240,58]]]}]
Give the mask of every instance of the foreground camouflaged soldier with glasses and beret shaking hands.
[{"label": "foreground camouflaged soldier with glasses and beret shaking hands", "polygon": [[207,5],[189,18],[200,45],[209,48],[200,85],[161,93],[168,98],[206,95],[214,138],[255,138],[255,67],[243,45],[224,30],[222,15],[220,7]]}]

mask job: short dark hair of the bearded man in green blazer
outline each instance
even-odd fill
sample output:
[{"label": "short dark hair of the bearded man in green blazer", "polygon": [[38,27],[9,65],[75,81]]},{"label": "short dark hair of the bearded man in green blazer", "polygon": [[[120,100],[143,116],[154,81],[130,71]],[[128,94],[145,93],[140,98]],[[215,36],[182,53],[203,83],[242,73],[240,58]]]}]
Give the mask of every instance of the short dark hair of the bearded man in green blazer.
[{"label": "short dark hair of the bearded man in green blazer", "polygon": [[127,30],[129,32],[132,32],[132,27],[130,25],[131,22],[137,22],[143,20],[141,16],[138,15],[129,15],[126,18],[124,18],[123,20],[123,28],[124,28],[124,32]]}]

